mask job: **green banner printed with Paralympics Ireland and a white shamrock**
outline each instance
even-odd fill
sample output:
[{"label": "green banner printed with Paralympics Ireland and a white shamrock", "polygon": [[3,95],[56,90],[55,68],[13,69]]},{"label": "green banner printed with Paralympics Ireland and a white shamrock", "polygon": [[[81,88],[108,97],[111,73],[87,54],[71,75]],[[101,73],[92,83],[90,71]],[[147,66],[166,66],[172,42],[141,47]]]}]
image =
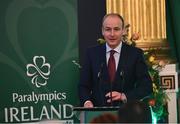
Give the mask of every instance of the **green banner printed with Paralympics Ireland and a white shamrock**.
[{"label": "green banner printed with Paralympics Ireland and a white shamrock", "polygon": [[73,122],[76,0],[0,1],[0,123]]}]

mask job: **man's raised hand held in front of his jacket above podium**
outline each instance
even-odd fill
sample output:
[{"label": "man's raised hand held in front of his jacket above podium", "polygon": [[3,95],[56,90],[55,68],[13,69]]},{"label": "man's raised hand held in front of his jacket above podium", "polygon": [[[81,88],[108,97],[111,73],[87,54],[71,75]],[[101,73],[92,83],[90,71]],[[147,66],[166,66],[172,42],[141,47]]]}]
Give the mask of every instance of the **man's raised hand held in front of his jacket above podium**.
[{"label": "man's raised hand held in front of his jacket above podium", "polygon": [[[119,93],[117,91],[112,91],[112,101],[122,101],[122,95],[123,93]],[[108,97],[107,102],[110,103],[111,102],[111,92],[107,93],[105,95],[106,97]]]}]

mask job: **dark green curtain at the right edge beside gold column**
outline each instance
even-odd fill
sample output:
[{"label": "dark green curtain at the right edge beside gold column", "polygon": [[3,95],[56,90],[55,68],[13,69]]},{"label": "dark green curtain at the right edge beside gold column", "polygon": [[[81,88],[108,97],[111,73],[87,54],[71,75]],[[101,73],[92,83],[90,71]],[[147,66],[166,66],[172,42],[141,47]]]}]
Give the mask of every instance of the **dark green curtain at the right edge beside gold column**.
[{"label": "dark green curtain at the right edge beside gold column", "polygon": [[173,58],[180,61],[180,0],[166,0],[167,40]]}]

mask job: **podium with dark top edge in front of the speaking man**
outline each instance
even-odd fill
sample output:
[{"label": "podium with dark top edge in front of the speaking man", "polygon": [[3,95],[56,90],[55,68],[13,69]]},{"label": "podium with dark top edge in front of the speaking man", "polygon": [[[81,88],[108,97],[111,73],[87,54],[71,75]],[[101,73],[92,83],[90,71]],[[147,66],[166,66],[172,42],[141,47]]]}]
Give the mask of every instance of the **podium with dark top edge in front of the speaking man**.
[{"label": "podium with dark top edge in front of the speaking man", "polygon": [[93,118],[103,114],[103,113],[112,113],[117,115],[119,107],[93,107],[93,108],[85,108],[85,107],[74,107],[73,111],[80,123],[89,123]]}]

